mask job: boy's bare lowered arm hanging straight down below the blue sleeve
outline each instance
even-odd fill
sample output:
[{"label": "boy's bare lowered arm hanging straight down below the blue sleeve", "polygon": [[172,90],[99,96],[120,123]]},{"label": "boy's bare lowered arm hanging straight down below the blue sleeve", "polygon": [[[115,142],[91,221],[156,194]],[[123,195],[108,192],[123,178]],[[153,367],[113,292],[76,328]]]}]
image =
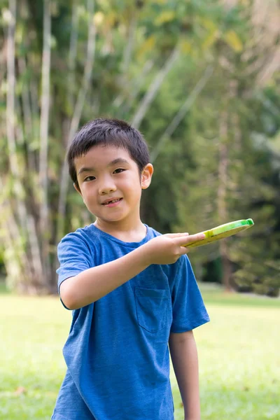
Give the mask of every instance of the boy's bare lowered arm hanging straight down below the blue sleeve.
[{"label": "boy's bare lowered arm hanging straight down below the blue sleeve", "polygon": [[181,393],[185,420],[200,420],[198,358],[193,331],[171,333],[169,350]]}]

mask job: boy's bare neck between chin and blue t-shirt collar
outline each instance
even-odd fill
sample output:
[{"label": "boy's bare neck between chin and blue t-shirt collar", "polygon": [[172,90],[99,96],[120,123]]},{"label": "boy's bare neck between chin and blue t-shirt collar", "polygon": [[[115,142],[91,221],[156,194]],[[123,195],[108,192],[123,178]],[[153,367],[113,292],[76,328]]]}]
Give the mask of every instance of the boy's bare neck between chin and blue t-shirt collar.
[{"label": "boy's bare neck between chin and blue t-shirt collar", "polygon": [[140,218],[133,225],[127,223],[127,221],[123,223],[104,223],[104,221],[97,219],[94,222],[94,226],[125,242],[140,242],[146,237],[147,233],[146,226],[141,222]]}]

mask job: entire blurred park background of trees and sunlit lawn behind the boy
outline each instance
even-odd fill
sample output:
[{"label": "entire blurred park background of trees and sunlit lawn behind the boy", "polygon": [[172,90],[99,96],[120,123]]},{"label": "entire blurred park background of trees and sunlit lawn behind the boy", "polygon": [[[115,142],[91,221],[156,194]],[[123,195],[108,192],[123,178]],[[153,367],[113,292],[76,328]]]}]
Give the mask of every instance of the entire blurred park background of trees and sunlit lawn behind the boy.
[{"label": "entire blurred park background of trees and sunlit lawn behind the boy", "polygon": [[[1,0],[0,419],[50,418],[71,314],[59,240],[94,221],[69,182],[83,123],[122,118],[155,167],[162,233],[255,225],[190,253],[211,323],[195,332],[202,419],[280,419],[280,3]],[[176,420],[183,409],[172,372]]]}]

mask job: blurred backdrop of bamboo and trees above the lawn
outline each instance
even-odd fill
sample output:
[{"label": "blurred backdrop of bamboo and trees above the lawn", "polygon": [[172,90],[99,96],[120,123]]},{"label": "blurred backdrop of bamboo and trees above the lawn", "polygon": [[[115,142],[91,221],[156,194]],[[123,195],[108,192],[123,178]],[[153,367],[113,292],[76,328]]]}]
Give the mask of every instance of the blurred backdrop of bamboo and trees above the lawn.
[{"label": "blurred backdrop of bamboo and trees above the lawn", "polygon": [[123,118],[155,166],[142,218],[162,233],[243,218],[193,253],[201,281],[279,294],[280,5],[267,0],[3,1],[1,245],[8,288],[56,293],[56,246],[94,221],[66,147]]}]

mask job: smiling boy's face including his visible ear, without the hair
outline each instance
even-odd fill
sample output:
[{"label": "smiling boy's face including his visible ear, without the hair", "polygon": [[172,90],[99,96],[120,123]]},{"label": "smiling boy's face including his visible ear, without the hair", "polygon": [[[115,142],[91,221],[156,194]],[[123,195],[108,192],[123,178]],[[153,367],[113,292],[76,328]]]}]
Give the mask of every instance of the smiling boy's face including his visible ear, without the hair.
[{"label": "smiling boy's face including his visible ear, without the hair", "polygon": [[141,190],[151,183],[151,164],[139,176],[137,163],[125,149],[94,146],[75,159],[75,166],[80,191],[75,188],[97,225],[139,221]]}]

